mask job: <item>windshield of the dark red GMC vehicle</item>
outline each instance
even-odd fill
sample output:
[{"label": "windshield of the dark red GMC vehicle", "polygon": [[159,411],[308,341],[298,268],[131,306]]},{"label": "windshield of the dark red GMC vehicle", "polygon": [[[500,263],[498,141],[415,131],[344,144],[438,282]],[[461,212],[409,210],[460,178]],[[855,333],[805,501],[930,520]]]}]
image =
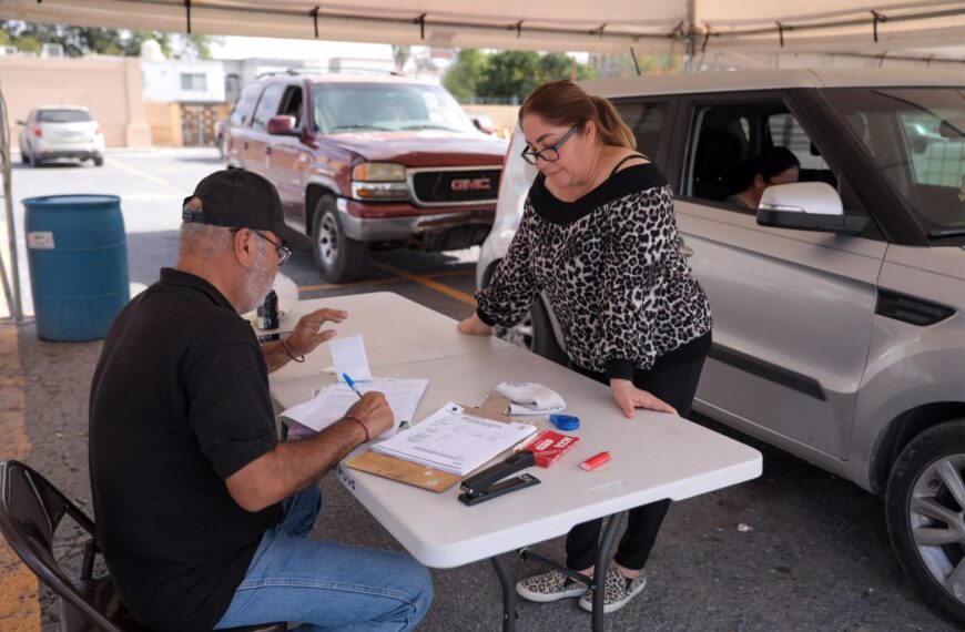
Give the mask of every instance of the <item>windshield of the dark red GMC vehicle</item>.
[{"label": "windshield of the dark red GMC vehicle", "polygon": [[443,130],[474,132],[444,88],[398,83],[321,83],[312,88],[315,125],[324,133]]}]

